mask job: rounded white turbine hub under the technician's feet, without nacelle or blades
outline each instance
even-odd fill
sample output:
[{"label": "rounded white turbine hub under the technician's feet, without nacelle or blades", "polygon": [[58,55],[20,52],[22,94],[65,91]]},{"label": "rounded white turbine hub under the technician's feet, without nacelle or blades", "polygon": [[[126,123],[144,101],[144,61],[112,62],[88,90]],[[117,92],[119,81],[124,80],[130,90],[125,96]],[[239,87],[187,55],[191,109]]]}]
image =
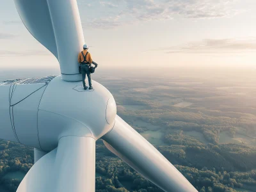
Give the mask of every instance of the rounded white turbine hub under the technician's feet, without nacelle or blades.
[{"label": "rounded white turbine hub under the technician's feet, without nacelle or blades", "polygon": [[[113,128],[116,104],[112,94],[95,81],[94,91],[74,89],[81,84],[82,82],[65,82],[58,76],[45,89],[38,111],[39,138],[45,151],[54,149],[60,137],[90,134],[90,137],[97,140]],[[49,148],[50,144],[53,148]],[[48,145],[47,148],[45,145]]]}]

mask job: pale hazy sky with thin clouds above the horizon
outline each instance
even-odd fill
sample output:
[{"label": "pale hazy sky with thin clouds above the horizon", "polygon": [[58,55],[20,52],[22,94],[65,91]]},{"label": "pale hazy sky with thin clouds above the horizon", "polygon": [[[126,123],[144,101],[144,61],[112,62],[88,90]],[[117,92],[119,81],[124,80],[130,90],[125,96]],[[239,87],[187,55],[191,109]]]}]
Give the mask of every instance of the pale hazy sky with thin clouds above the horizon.
[{"label": "pale hazy sky with thin clouds above the horizon", "polygon": [[[101,66],[256,68],[255,0],[77,0],[93,61]],[[58,68],[0,0],[0,68]]]}]

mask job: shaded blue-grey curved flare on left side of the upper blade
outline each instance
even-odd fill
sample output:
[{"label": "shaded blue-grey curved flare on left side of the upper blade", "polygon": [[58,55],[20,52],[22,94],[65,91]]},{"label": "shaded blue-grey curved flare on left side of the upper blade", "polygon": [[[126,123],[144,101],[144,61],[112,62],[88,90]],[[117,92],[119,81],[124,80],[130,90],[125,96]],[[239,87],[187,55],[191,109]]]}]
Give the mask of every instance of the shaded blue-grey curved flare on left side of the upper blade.
[{"label": "shaded blue-grey curved flare on left side of the upper blade", "polygon": [[28,31],[58,59],[47,0],[14,0],[14,3]]}]

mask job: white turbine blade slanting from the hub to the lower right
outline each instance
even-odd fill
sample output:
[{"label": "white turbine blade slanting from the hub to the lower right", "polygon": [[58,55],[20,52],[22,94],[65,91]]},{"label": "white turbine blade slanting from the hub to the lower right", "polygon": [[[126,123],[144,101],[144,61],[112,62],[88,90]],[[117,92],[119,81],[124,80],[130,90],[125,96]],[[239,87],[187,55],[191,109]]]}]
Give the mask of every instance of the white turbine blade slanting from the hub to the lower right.
[{"label": "white turbine blade slanting from the hub to the lower right", "polygon": [[118,115],[114,128],[102,139],[111,152],[164,191],[196,191],[175,166]]}]

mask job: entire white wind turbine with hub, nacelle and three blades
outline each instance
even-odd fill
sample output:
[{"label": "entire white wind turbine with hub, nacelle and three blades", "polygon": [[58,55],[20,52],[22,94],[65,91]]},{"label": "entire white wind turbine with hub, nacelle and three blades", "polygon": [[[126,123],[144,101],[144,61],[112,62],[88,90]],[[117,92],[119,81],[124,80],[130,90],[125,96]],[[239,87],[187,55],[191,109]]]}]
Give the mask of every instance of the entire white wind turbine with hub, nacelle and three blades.
[{"label": "entire white wind turbine with hub, nacelle and three blades", "polygon": [[28,31],[60,63],[58,77],[0,84],[0,134],[35,148],[35,165],[18,192],[95,191],[95,142],[166,192],[194,192],[189,181],[116,115],[112,94],[97,82],[83,91],[76,61],[84,44],[76,0],[14,0]]}]

